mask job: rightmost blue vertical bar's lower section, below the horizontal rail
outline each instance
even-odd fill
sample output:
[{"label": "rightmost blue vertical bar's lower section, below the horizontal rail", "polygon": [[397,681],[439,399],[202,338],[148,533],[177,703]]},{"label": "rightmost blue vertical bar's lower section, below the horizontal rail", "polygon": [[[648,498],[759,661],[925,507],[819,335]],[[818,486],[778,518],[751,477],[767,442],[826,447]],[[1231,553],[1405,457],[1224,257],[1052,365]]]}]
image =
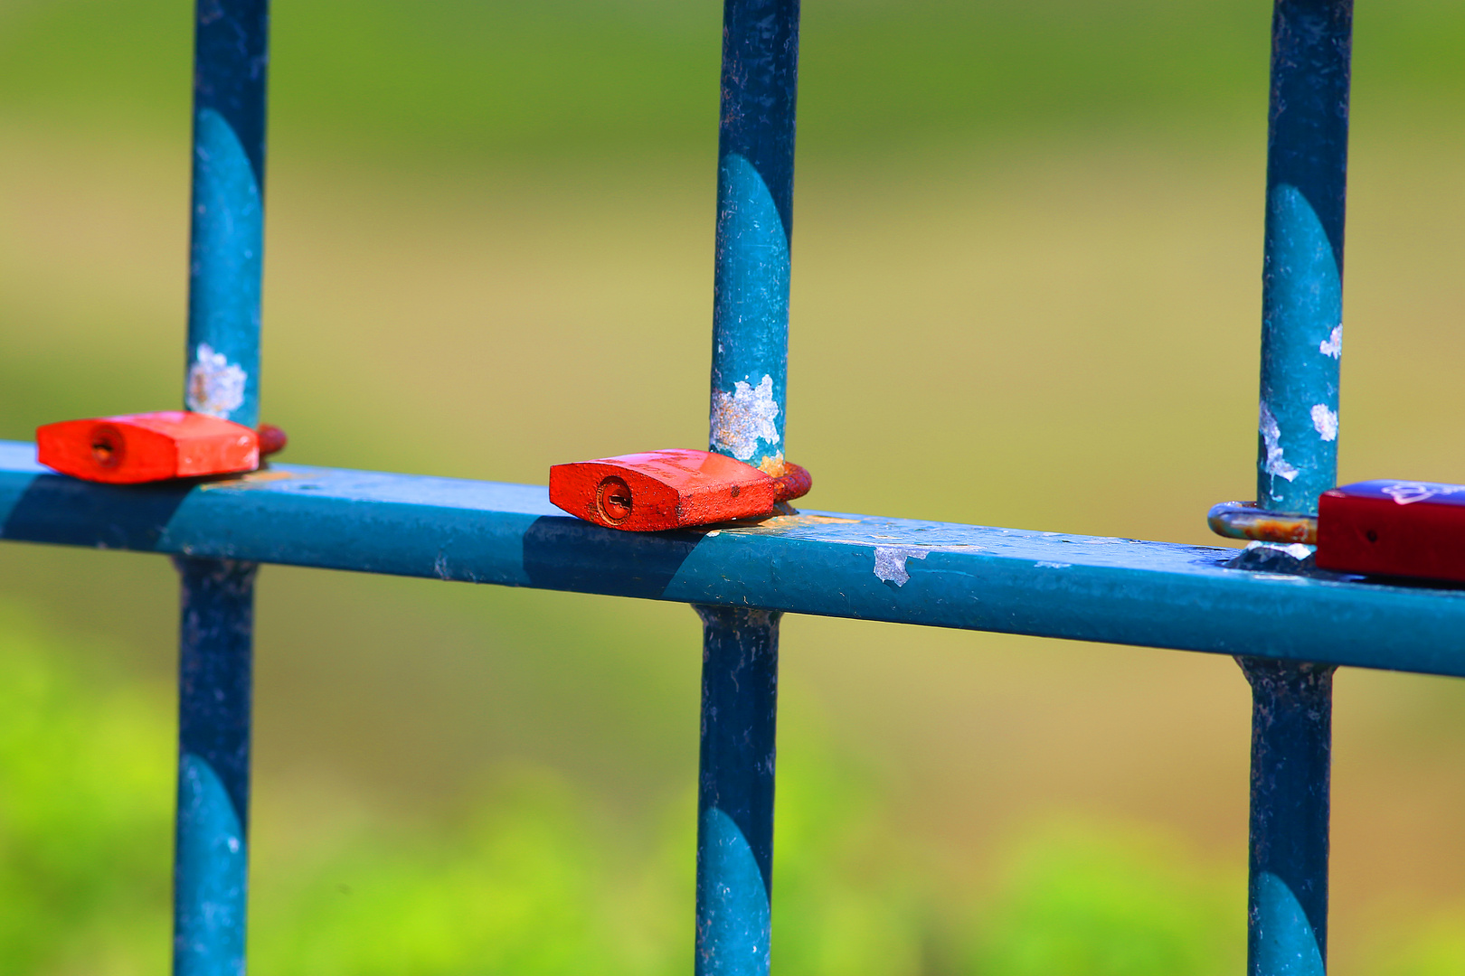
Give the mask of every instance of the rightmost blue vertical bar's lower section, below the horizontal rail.
[{"label": "rightmost blue vertical bar's lower section, below the horizontal rail", "polygon": [[1239,663],[1253,701],[1247,972],[1323,976],[1333,667]]}]

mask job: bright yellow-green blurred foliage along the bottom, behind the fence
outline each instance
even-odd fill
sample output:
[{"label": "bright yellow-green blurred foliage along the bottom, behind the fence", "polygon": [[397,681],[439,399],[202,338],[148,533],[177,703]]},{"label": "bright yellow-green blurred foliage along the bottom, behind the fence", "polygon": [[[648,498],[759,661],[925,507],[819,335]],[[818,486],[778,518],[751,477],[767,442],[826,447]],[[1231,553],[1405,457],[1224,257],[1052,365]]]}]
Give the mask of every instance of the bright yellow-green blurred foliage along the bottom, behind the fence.
[{"label": "bright yellow-green blurred foliage along the bottom, behind the fence", "polygon": [[[0,604],[0,958],[6,972],[161,972],[173,767],[168,695]],[[878,844],[882,803],[851,759],[781,764],[774,953],[828,976],[1234,970],[1238,878],[1119,830],[1055,825],[1001,884],[938,893]],[[544,768],[507,768],[445,822],[363,822],[255,879],[256,972],[680,973],[693,837],[668,818],[628,850]],[[680,808],[686,803],[677,803]],[[980,901],[980,906],[979,906]]]}]

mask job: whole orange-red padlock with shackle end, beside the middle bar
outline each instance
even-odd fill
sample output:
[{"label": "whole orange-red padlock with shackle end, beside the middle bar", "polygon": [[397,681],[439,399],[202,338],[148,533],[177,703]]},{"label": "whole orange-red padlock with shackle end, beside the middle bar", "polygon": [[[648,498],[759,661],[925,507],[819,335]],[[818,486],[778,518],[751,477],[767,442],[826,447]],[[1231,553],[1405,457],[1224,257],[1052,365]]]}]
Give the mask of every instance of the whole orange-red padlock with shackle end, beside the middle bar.
[{"label": "whole orange-red padlock with shackle end, beside the middle bar", "polygon": [[812,487],[809,471],[785,464],[774,477],[708,451],[623,454],[549,468],[549,500],[607,528],[653,533],[772,515],[778,502]]}]

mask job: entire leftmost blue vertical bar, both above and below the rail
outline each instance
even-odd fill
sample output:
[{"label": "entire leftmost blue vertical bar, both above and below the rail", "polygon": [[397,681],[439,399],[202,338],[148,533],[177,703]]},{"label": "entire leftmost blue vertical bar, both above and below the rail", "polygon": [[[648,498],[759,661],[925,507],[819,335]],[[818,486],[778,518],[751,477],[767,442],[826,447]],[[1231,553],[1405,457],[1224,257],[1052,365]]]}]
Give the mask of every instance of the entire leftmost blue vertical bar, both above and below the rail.
[{"label": "entire leftmost blue vertical bar, both above and below the rail", "polygon": [[[189,410],[259,421],[268,0],[198,0],[189,260]],[[256,565],[176,560],[179,796],[173,972],[242,976]]]}]

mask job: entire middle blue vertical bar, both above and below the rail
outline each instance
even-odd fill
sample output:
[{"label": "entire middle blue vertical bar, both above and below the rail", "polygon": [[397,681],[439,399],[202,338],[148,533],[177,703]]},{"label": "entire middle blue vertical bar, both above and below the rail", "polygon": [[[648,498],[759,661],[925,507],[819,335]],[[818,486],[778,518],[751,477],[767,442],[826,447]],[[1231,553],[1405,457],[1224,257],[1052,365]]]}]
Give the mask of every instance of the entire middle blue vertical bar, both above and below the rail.
[{"label": "entire middle blue vertical bar, both above and below the rail", "polygon": [[[725,0],[711,449],[784,473],[798,0]],[[769,972],[778,613],[697,607],[699,976]]]}]

